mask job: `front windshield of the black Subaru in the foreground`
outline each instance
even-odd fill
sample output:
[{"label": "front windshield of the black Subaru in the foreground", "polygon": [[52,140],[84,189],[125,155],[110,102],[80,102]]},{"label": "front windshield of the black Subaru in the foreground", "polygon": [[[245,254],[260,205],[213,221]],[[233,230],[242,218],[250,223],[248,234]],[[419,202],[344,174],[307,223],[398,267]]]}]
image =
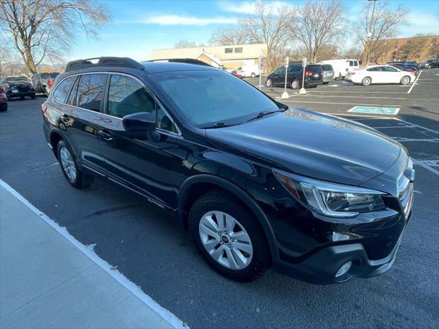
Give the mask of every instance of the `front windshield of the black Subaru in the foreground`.
[{"label": "front windshield of the black Subaru in the foreground", "polygon": [[247,82],[222,71],[156,73],[154,80],[193,125],[236,124],[265,111],[279,110]]}]

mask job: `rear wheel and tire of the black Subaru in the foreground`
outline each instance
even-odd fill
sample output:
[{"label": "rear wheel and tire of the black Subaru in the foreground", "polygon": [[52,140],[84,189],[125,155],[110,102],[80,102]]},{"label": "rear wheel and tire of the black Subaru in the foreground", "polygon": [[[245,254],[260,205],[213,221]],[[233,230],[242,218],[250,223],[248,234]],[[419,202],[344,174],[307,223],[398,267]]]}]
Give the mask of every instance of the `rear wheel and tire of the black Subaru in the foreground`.
[{"label": "rear wheel and tire of the black Subaru in the foreground", "polygon": [[61,171],[71,186],[82,188],[91,183],[92,177],[82,173],[67,143],[60,141],[56,147],[56,154],[58,156],[58,162],[60,162]]}]

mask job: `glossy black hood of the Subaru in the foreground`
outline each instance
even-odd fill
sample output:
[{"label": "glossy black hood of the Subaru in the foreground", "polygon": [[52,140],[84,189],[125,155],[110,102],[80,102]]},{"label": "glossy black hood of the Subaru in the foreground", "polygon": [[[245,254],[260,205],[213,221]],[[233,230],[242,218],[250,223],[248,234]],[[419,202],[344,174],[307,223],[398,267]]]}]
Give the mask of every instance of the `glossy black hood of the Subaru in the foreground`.
[{"label": "glossy black hood of the Subaru in the foreground", "polygon": [[383,173],[401,152],[365,125],[297,108],[206,135],[270,167],[350,185]]}]

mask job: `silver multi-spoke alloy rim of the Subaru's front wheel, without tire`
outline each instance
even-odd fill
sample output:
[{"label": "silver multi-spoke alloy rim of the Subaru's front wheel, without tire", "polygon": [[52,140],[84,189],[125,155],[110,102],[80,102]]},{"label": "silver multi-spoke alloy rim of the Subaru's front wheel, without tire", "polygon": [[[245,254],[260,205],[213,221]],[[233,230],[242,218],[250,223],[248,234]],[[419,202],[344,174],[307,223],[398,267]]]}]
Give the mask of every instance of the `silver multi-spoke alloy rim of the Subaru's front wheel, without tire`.
[{"label": "silver multi-spoke alloy rim of the Subaru's front wheel, without tire", "polygon": [[206,212],[200,219],[199,233],[206,252],[229,269],[246,268],[253,256],[250,236],[241,223],[222,211]]}]

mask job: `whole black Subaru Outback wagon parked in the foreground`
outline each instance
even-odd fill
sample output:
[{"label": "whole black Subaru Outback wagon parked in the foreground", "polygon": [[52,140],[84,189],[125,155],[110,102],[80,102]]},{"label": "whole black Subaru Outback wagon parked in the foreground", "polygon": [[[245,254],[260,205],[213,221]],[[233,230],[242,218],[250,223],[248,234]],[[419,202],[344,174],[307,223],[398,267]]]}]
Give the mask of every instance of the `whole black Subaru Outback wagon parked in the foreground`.
[{"label": "whole black Subaru Outback wagon parked in the foreground", "polygon": [[316,284],[377,276],[412,212],[402,145],[197,60],[69,62],[42,111],[71,185],[98,176],[143,195],[234,280],[270,267]]}]

